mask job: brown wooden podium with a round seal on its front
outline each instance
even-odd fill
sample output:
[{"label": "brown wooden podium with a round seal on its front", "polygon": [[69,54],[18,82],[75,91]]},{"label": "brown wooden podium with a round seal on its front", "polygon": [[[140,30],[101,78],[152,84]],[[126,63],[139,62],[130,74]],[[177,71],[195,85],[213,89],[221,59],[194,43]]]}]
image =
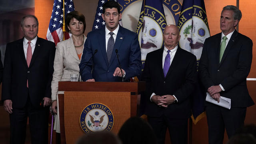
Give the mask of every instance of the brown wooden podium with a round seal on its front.
[{"label": "brown wooden podium with a round seal on its front", "polygon": [[93,103],[107,106],[113,116],[112,132],[117,134],[122,124],[136,116],[137,98],[145,90],[145,82],[59,82],[60,137],[62,144],[74,144],[85,134],[80,115]]}]

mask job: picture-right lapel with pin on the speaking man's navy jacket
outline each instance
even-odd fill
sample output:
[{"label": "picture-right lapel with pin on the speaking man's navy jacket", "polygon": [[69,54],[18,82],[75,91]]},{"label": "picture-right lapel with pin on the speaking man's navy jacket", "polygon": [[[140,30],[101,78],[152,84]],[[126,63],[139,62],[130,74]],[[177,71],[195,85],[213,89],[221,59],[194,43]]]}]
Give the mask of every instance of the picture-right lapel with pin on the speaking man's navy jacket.
[{"label": "picture-right lapel with pin on the speaking man's navy jacket", "polygon": [[115,41],[114,49],[113,49],[112,54],[111,54],[110,64],[112,64],[112,62],[114,61],[114,59],[116,57],[116,49],[119,51],[123,40],[124,40],[124,34],[123,34],[123,31],[122,31],[122,27],[119,26],[119,30],[118,30],[118,33],[116,35],[116,41]]}]

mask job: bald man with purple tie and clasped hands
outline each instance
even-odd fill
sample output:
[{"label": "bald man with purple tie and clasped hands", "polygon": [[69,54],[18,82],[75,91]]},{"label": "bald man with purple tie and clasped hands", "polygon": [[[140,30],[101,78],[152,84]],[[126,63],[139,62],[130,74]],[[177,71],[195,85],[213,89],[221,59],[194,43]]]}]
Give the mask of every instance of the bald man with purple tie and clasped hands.
[{"label": "bald man with purple tie and clasped hands", "polygon": [[167,128],[172,144],[187,144],[196,56],[178,46],[177,26],[166,26],[163,39],[164,48],[147,54],[142,73],[146,81],[146,115],[158,144],[164,144]]}]

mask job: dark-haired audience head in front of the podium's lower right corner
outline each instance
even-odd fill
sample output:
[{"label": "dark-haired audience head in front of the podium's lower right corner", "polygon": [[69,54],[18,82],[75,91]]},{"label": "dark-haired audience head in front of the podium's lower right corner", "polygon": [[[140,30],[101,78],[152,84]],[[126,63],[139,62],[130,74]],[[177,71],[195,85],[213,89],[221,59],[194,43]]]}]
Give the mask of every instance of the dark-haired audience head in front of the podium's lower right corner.
[{"label": "dark-haired audience head in front of the podium's lower right corner", "polygon": [[152,127],[139,117],[132,117],[124,122],[118,132],[123,144],[156,144]]}]

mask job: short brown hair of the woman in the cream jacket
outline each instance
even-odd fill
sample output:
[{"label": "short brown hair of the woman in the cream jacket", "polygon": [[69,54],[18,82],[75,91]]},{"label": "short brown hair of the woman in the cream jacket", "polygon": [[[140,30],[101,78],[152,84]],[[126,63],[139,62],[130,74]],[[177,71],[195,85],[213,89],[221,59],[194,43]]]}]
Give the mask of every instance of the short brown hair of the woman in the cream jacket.
[{"label": "short brown hair of the woman in the cream jacket", "polygon": [[65,28],[66,28],[66,31],[69,32],[68,30],[68,26],[69,26],[69,23],[70,21],[73,19],[73,18],[76,18],[78,21],[82,22],[84,24],[84,30],[86,28],[86,23],[85,23],[85,17],[84,15],[81,13],[81,12],[78,12],[78,11],[72,11],[70,13],[68,13],[66,15],[66,20],[65,20]]}]

